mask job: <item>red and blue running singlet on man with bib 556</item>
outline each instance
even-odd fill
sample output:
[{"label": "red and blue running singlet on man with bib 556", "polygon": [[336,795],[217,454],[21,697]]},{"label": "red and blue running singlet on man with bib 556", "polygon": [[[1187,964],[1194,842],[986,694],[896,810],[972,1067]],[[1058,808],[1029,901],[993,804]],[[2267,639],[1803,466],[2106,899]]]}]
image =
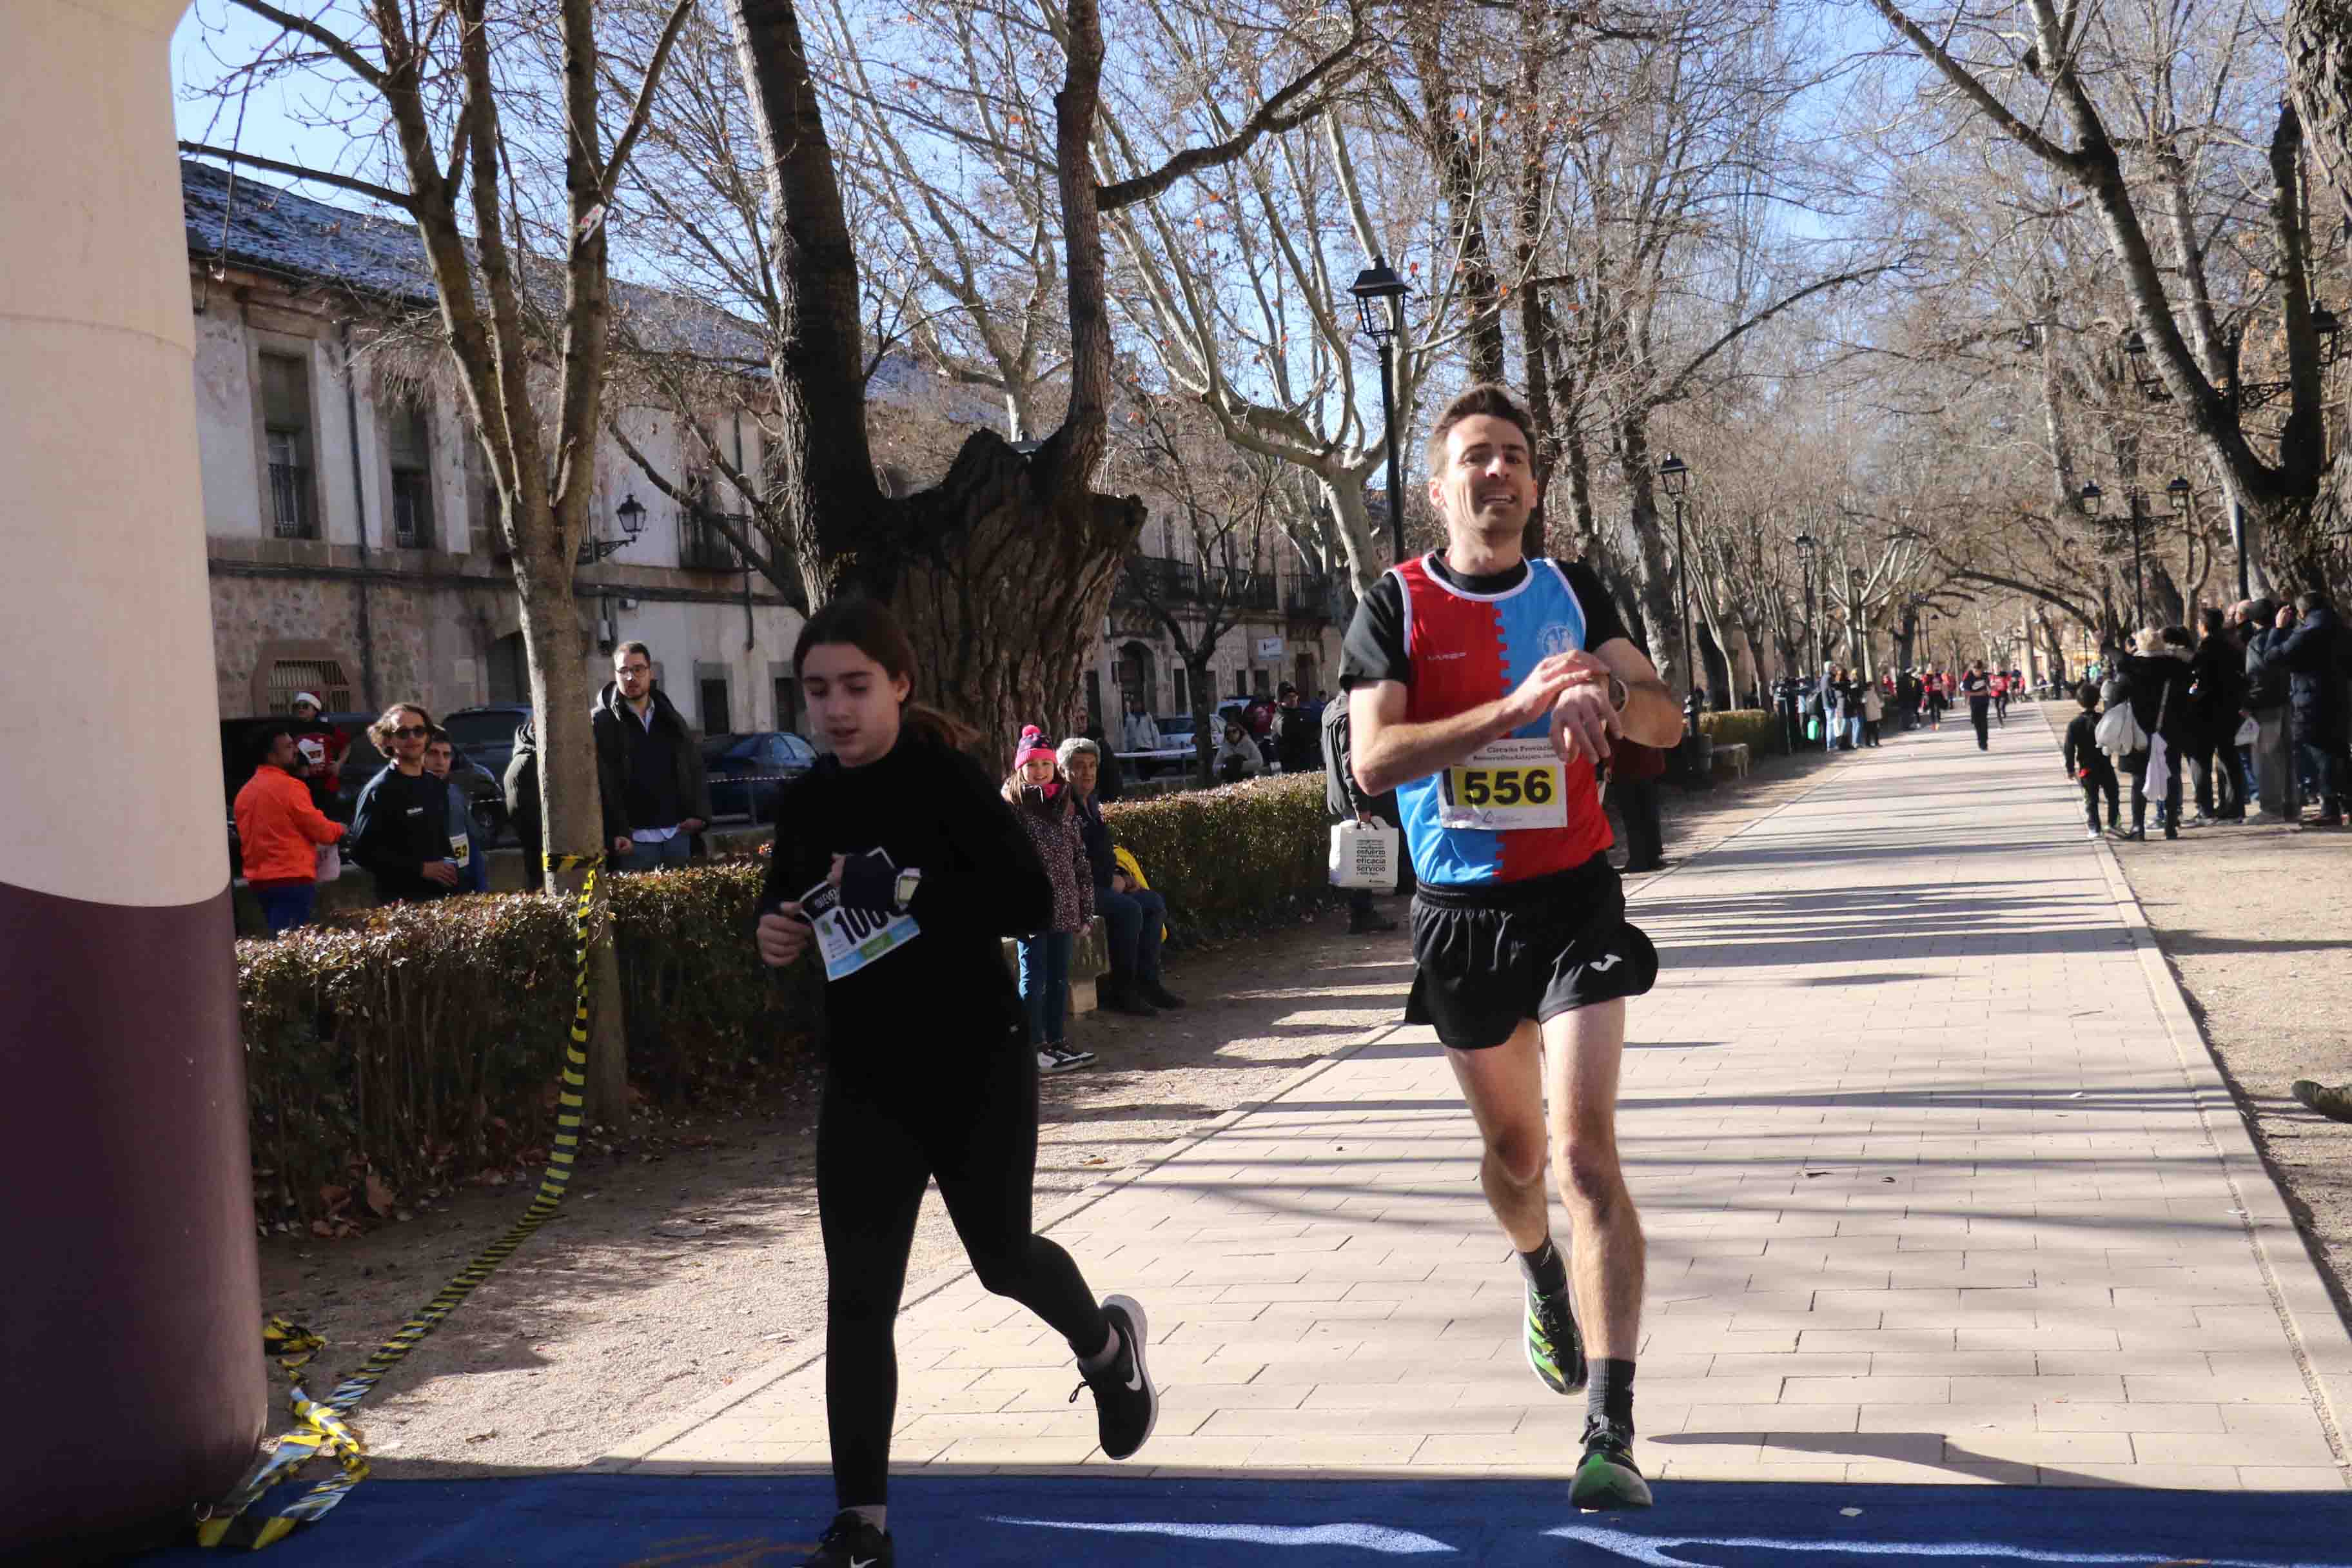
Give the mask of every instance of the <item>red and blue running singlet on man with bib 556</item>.
[{"label": "red and blue running singlet on man with bib 556", "polygon": [[[1590,618],[1566,574],[1545,557],[1526,567],[1517,585],[1494,595],[1444,581],[1430,557],[1390,571],[1404,585],[1409,724],[1510,696],[1538,661],[1585,646]],[[1613,623],[1613,611],[1602,623]],[[1416,877],[1439,886],[1526,882],[1609,849],[1592,762],[1559,762],[1550,736],[1545,715],[1456,766],[1397,785]]]}]

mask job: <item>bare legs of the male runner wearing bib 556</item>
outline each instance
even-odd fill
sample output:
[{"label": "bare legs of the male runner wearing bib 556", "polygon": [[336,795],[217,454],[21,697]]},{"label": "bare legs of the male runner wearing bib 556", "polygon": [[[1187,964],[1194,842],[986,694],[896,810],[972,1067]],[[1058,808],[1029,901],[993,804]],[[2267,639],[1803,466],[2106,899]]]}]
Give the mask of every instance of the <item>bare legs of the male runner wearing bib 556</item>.
[{"label": "bare legs of the male runner wearing bib 556", "polygon": [[1541,1032],[1522,1020],[1501,1046],[1446,1051],[1446,1060],[1486,1143],[1479,1187],[1503,1234],[1522,1253],[1552,1234],[1543,1190],[1550,1164],[1569,1208],[1569,1265],[1585,1349],[1632,1361],[1642,1342],[1646,1248],[1616,1147],[1625,1001],[1562,1013]]}]

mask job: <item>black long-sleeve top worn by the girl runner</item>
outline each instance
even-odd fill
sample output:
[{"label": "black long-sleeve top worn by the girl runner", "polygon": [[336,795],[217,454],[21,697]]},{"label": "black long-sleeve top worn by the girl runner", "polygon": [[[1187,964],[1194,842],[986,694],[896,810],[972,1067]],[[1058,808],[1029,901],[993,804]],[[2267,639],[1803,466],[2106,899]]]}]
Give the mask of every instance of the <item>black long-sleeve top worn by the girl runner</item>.
[{"label": "black long-sleeve top worn by the girl runner", "polygon": [[910,733],[858,769],[818,759],[779,802],[760,910],[800,903],[833,856],[870,849],[922,872],[908,903],[922,936],[826,985],[828,1051],[1002,1044],[1018,1027],[1021,997],[1000,943],[1054,922],[1054,884],[995,780],[971,757]]}]

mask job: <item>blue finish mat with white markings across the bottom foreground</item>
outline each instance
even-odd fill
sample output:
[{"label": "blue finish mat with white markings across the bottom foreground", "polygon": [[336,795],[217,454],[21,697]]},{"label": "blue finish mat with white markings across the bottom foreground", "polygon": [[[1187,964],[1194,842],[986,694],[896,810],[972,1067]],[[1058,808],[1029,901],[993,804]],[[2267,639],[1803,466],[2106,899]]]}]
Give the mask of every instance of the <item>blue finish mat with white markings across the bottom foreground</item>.
[{"label": "blue finish mat with white markings across the bottom foreground", "polygon": [[[898,1476],[901,1568],[1463,1563],[2211,1563],[2352,1568],[2352,1493],[1661,1481],[1646,1514],[1576,1514],[1555,1481]],[[268,1568],[788,1568],[826,1476],[369,1481]],[[176,1549],[158,1568],[223,1556]]]}]

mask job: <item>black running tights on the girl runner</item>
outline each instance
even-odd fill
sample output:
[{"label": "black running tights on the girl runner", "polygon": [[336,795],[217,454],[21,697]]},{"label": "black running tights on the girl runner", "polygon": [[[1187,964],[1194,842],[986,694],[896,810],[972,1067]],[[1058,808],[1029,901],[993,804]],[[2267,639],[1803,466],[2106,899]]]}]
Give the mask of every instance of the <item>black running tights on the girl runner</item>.
[{"label": "black running tights on the girl runner", "polygon": [[[844,1509],[887,1500],[898,1408],[891,1328],[927,1180],[938,1178],[983,1286],[1042,1316],[1073,1354],[1094,1354],[1110,1335],[1070,1253],[1030,1229],[1037,1053],[1018,1041],[957,1041],[936,1056],[927,1048],[922,1063],[868,1058],[826,1072],[816,1213],[826,1234],[826,1425]],[[889,1046],[873,1039],[847,1048],[887,1056]]]}]

